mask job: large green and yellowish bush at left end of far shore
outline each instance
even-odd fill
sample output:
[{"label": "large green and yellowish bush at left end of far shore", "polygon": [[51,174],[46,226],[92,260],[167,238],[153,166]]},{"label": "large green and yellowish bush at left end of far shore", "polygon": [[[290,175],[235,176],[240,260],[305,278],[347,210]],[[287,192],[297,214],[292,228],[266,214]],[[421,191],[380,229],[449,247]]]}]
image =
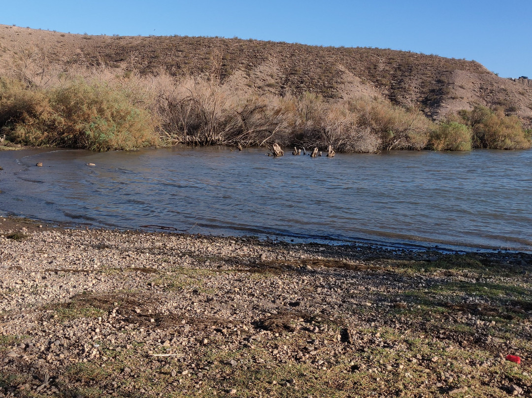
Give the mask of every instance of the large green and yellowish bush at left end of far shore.
[{"label": "large green and yellowish bush at left end of far shore", "polygon": [[145,109],[119,90],[84,80],[45,90],[2,80],[0,122],[8,139],[32,146],[109,151],[157,144]]}]

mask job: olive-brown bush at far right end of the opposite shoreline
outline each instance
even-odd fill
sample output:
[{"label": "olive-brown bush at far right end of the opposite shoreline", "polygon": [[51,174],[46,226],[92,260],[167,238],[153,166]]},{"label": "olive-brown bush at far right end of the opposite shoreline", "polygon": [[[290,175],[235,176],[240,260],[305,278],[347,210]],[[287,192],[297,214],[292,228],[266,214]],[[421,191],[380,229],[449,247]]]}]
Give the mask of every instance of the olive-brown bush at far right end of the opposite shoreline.
[{"label": "olive-brown bush at far right end of the opposite shoreline", "polygon": [[516,115],[506,116],[502,110],[477,105],[471,111],[460,111],[459,116],[473,131],[473,147],[514,150],[528,149],[532,144]]}]

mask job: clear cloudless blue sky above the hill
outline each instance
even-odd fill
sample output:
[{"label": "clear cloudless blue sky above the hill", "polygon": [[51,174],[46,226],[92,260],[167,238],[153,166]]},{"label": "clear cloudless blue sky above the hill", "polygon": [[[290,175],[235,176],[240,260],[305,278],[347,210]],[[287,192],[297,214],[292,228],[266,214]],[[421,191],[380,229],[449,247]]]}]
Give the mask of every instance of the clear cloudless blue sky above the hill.
[{"label": "clear cloudless blue sky above the hill", "polygon": [[0,23],[89,35],[402,49],[532,78],[532,0],[17,0],[3,2]]}]

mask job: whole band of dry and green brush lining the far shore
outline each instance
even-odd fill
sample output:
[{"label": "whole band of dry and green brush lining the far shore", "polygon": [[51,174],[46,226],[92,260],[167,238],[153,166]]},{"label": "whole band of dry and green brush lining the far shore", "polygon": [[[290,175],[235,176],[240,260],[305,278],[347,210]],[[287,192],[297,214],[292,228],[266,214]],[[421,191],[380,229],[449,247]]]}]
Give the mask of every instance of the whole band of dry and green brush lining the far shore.
[{"label": "whole band of dry and green brush lining the far shore", "polygon": [[519,120],[476,106],[435,125],[418,110],[383,99],[330,102],[231,92],[212,79],[178,81],[134,71],[61,74],[48,87],[0,78],[0,128],[15,143],[130,150],[153,145],[318,147],[336,152],[522,149]]}]

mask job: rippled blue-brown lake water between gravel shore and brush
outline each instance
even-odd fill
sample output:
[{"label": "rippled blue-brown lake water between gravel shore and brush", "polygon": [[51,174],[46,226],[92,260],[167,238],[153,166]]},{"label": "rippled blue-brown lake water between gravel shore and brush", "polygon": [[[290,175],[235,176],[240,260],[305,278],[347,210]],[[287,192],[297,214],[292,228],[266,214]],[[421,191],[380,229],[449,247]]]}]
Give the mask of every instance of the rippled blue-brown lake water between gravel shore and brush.
[{"label": "rippled blue-brown lake water between gravel shore and brush", "polygon": [[265,153],[0,152],[0,211],[96,227],[532,252],[532,151]]}]

